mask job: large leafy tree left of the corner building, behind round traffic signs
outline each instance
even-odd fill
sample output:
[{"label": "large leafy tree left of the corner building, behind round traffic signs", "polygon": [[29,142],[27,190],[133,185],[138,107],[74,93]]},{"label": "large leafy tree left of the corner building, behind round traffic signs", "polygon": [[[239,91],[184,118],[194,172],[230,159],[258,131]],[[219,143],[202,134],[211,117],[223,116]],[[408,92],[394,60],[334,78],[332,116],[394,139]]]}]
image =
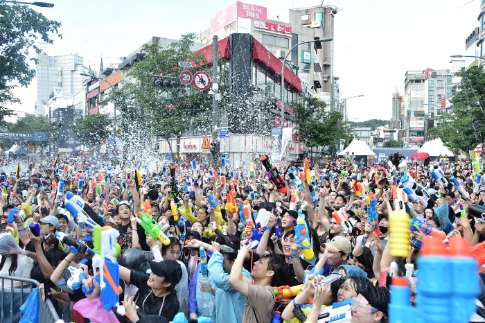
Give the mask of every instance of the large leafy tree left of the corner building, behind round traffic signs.
[{"label": "large leafy tree left of the corner building, behind round traffic signs", "polygon": [[134,82],[123,83],[123,87],[112,91],[107,99],[121,114],[121,133],[129,155],[130,145],[135,147],[133,143],[142,143],[150,135],[166,141],[177,138],[177,147],[170,146],[170,150],[179,155],[182,135],[191,127],[202,129],[209,125],[212,104],[207,95],[209,89],[166,89],[153,85],[154,76],[178,78],[182,71],[178,62],[192,62],[198,69],[206,64],[204,55],[191,52],[194,38],[194,34],[183,35],[166,49],[158,44],[145,44],[142,49],[145,58],[134,62],[128,74]]}]

